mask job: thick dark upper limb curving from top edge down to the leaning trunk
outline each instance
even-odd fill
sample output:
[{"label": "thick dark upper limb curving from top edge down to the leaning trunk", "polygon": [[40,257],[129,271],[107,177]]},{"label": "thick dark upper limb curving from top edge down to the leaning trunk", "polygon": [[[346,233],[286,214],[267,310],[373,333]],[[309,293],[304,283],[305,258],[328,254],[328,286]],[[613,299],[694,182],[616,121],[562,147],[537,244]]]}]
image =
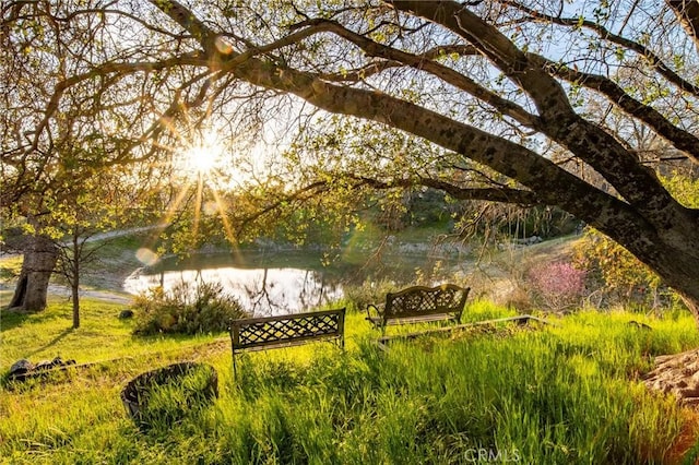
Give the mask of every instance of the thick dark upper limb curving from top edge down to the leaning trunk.
[{"label": "thick dark upper limb curving from top edge down to the leaning trunk", "polygon": [[574,112],[561,85],[542,68],[541,57],[518,49],[495,26],[459,3],[398,0],[390,3],[443,25],[478,48],[529,94],[544,123],[543,133],[604,176],[633,207],[655,220],[685,215],[652,170],[639,164],[613,135]]}]

